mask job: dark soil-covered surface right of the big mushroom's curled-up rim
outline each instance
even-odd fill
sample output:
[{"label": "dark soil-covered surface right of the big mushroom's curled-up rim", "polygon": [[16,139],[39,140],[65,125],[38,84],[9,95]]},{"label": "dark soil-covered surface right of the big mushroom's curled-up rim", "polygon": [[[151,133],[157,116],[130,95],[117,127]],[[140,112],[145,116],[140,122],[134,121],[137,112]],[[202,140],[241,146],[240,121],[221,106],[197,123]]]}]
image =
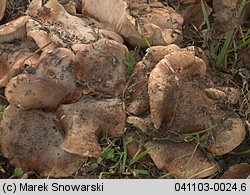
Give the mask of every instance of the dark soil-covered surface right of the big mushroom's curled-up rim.
[{"label": "dark soil-covered surface right of the big mushroom's curled-up rim", "polygon": [[221,115],[214,109],[215,102],[199,86],[201,82],[200,78],[194,78],[192,81],[173,83],[163,108],[162,121],[168,123],[168,130],[190,133],[215,125],[215,118]]}]

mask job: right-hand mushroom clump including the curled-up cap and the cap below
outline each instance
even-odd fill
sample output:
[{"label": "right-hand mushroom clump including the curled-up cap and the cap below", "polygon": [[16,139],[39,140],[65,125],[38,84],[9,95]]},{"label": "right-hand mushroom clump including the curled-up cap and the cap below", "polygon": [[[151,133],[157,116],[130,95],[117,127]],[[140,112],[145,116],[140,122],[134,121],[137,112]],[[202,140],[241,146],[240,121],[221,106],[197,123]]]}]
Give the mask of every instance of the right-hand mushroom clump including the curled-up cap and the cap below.
[{"label": "right-hand mushroom clump including the curled-up cap and the cap below", "polygon": [[[209,161],[200,149],[223,155],[242,143],[246,135],[240,117],[218,106],[219,102],[236,104],[239,91],[218,87],[219,78],[207,71],[205,62],[207,57],[196,47],[155,46],[147,49],[133,73],[127,108],[132,116],[127,122],[147,135],[161,132],[159,139],[153,137],[145,147],[159,169],[177,178],[214,174],[218,164]],[[182,134],[184,139],[175,142],[168,132]],[[199,132],[209,132],[202,148],[189,142],[190,136]]]}]

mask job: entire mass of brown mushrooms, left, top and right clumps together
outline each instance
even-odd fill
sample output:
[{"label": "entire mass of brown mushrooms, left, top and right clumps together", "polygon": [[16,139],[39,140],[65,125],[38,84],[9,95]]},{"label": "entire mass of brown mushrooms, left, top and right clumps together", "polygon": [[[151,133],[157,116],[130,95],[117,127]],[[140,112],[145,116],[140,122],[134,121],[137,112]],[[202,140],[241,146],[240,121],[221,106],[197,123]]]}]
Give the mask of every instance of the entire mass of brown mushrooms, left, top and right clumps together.
[{"label": "entire mass of brown mushrooms, left, top and right clumps together", "polygon": [[[67,177],[88,157],[101,156],[103,133],[120,135],[127,124],[145,136],[211,129],[203,149],[214,155],[242,142],[241,119],[216,107],[237,103],[237,90],[216,87],[206,76],[209,62],[201,49],[176,45],[181,15],[144,0],[82,0],[82,14],[74,6],[33,0],[25,16],[0,26],[0,87],[10,104],[0,145],[11,164],[42,177]],[[152,46],[130,78],[124,40]],[[127,94],[125,107],[120,97]],[[146,140],[145,159],[174,177],[203,178],[218,169],[194,143]],[[131,155],[136,148],[128,145]]]}]

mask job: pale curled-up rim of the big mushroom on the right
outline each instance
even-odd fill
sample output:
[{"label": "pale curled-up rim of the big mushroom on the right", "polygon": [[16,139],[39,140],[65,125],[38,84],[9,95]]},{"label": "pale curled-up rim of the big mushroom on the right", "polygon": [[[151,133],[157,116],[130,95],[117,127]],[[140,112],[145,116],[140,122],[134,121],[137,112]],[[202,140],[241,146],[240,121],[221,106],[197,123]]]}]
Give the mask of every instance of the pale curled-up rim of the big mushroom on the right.
[{"label": "pale curled-up rim of the big mushroom on the right", "polygon": [[151,71],[148,80],[150,112],[155,128],[159,129],[164,118],[166,105],[180,80],[203,76],[206,64],[191,51],[175,51],[164,57]]}]

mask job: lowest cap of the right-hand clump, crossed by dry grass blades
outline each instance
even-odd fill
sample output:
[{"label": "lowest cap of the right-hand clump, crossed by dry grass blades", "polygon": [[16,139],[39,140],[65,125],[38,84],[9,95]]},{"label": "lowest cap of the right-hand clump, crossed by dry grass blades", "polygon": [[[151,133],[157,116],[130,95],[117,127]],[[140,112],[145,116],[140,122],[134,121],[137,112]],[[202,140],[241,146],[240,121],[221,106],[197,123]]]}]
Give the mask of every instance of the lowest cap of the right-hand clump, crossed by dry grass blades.
[{"label": "lowest cap of the right-hand clump, crossed by dry grass blades", "polygon": [[146,143],[149,155],[158,169],[167,170],[176,178],[204,178],[218,170],[216,162],[209,162],[191,143]]}]

